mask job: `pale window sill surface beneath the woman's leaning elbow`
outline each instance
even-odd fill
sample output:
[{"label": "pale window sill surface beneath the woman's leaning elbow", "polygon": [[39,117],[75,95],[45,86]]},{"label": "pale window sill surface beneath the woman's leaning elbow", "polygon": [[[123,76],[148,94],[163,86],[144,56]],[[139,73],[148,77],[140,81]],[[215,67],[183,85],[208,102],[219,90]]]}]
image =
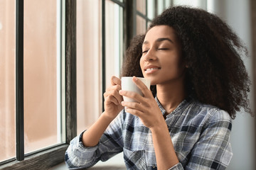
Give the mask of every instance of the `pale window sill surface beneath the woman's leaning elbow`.
[{"label": "pale window sill surface beneath the woman's leaning elbow", "polygon": [[[111,159],[107,160],[107,162],[98,162],[90,168],[91,170],[124,170],[126,169],[124,164],[124,159],[122,157],[122,153],[117,154]],[[68,170],[68,167],[65,165],[65,162],[58,164],[57,166],[53,166],[50,170]]]}]

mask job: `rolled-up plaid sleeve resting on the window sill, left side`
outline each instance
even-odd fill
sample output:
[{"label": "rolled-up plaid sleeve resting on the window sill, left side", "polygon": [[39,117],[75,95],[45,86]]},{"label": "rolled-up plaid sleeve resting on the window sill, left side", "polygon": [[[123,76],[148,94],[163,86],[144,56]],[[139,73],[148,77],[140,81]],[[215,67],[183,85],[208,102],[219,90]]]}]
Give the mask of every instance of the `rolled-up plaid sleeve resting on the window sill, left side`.
[{"label": "rolled-up plaid sleeve resting on the window sill, left side", "polygon": [[68,169],[85,169],[98,161],[105,162],[115,154],[122,152],[122,114],[119,113],[100,138],[95,147],[82,144],[82,134],[71,140],[65,152],[65,163]]}]

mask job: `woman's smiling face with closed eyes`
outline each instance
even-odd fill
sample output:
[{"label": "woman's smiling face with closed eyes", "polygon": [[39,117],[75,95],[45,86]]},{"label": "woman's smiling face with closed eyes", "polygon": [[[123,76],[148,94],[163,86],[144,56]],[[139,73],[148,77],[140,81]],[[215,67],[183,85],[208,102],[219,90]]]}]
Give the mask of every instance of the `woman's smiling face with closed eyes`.
[{"label": "woman's smiling face with closed eyes", "polygon": [[183,82],[185,64],[181,57],[181,43],[170,26],[154,26],[142,44],[140,67],[151,85]]}]

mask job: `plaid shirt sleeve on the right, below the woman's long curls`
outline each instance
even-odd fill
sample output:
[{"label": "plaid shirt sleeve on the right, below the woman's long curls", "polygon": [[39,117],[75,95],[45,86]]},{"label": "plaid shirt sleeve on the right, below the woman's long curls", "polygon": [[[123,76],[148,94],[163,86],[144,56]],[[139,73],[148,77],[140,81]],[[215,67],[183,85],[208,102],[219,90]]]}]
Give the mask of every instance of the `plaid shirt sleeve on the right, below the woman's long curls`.
[{"label": "plaid shirt sleeve on the right, below the woman's long curls", "polygon": [[226,169],[233,156],[230,145],[231,118],[225,111],[211,115],[194,145],[188,164],[176,164],[169,170]]}]

